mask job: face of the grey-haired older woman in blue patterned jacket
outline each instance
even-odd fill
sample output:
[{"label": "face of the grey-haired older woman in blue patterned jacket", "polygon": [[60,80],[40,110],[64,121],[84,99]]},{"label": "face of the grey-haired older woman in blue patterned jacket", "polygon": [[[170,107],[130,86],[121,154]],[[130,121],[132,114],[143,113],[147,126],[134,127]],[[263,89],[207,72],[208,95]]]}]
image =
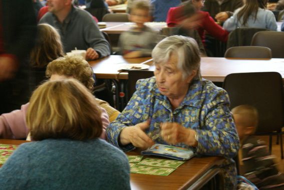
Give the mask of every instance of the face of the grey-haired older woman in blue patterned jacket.
[{"label": "face of the grey-haired older woman in blue patterned jacket", "polygon": [[179,99],[186,95],[189,83],[196,73],[194,71],[189,77],[183,78],[182,71],[177,68],[177,62],[177,56],[172,55],[166,64],[155,63],[154,75],[159,91],[171,99]]}]

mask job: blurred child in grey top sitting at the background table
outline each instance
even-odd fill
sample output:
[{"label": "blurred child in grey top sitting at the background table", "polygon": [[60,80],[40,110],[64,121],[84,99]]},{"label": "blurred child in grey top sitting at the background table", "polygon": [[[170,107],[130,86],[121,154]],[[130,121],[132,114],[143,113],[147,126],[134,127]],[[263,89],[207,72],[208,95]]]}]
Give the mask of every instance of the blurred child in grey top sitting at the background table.
[{"label": "blurred child in grey top sitting at the background table", "polygon": [[148,1],[134,2],[129,20],[136,24],[130,31],[124,32],[119,37],[120,54],[125,58],[150,57],[159,36],[146,22],[151,20],[151,8]]}]

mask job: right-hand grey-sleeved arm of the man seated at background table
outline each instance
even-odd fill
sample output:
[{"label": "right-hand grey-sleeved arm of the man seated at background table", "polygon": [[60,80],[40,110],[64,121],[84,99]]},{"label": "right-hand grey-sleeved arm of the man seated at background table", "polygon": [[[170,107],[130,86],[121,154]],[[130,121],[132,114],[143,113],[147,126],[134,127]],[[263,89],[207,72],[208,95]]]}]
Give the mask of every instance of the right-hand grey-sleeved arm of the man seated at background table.
[{"label": "right-hand grey-sleeved arm of the man seated at background table", "polygon": [[84,40],[90,48],[94,49],[99,54],[98,58],[110,55],[110,45],[100,32],[97,23],[91,17],[86,18]]}]

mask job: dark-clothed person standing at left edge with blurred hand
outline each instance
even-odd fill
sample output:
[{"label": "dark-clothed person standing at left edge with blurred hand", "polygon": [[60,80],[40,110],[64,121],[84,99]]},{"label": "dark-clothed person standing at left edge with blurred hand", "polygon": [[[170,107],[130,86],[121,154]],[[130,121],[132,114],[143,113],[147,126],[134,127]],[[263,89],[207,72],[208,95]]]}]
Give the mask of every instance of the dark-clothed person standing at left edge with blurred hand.
[{"label": "dark-clothed person standing at left edge with blurred hand", "polygon": [[29,100],[28,61],[36,37],[31,0],[0,0],[0,114]]}]

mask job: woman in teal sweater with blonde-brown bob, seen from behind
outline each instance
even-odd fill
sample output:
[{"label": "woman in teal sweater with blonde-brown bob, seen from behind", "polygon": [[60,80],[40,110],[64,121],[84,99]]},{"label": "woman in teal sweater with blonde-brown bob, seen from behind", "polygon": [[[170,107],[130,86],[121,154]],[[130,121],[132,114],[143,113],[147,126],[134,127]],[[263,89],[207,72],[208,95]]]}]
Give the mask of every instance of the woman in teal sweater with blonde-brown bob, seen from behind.
[{"label": "woman in teal sweater with blonde-brown bob, seen from behind", "polygon": [[49,81],[30,100],[24,143],[0,168],[0,189],[130,189],[126,155],[105,140],[94,96],[75,79]]}]

